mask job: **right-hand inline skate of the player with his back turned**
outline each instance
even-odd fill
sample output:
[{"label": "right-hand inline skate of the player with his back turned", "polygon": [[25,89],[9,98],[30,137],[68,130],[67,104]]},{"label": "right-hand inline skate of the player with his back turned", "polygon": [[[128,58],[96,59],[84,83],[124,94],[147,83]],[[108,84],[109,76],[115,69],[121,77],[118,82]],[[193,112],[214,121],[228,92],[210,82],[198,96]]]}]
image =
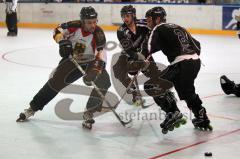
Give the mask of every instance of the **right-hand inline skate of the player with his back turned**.
[{"label": "right-hand inline skate of the player with his back turned", "polygon": [[192,123],[196,129],[204,131],[212,131],[213,127],[210,125],[210,120],[208,119],[206,109],[203,107],[197,115],[196,118],[192,119]]}]

